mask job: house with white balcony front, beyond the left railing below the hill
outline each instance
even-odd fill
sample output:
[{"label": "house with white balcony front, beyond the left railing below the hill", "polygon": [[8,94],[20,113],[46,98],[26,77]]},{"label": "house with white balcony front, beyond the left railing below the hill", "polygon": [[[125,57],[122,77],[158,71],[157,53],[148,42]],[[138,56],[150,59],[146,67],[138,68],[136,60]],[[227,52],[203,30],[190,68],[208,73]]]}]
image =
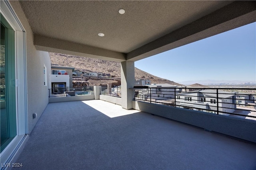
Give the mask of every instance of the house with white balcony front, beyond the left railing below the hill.
[{"label": "house with white balcony front, beyond the left railing below the hill", "polygon": [[72,72],[74,67],[52,66],[50,87],[52,89],[72,87]]}]

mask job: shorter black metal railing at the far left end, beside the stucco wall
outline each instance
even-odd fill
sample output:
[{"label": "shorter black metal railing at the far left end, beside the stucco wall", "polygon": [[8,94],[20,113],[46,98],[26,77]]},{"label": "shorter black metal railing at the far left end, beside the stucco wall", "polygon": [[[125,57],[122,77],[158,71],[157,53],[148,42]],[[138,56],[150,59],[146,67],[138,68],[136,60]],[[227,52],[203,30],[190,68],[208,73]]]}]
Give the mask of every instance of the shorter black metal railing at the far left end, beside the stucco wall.
[{"label": "shorter black metal railing at the far left end, beside the stucco wall", "polygon": [[93,95],[94,87],[53,87],[48,89],[49,97]]}]

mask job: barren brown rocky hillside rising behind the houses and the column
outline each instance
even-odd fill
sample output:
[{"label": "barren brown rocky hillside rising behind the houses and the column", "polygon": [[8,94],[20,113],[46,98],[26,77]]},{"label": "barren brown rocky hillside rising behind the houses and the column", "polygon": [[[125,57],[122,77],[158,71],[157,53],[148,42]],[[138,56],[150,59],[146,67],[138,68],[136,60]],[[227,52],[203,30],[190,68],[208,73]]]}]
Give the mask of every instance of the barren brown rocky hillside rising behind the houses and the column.
[{"label": "barren brown rocky hillside rising behind the houses and the column", "polygon": [[[68,67],[75,67],[80,71],[88,71],[88,72],[102,72],[109,73],[112,77],[120,77],[121,76],[121,65],[120,62],[116,61],[108,61],[103,59],[92,59],[86,57],[80,57],[75,55],[66,55],[59,53],[49,53],[51,64],[52,65],[62,65]],[[174,81],[170,81],[167,79],[162,79],[160,77],[156,77],[152,74],[149,74],[145,71],[135,68],[135,79],[148,79],[151,83],[165,83],[172,85],[181,85]],[[94,84],[96,81],[94,81]],[[102,81],[101,83],[102,84]]]}]

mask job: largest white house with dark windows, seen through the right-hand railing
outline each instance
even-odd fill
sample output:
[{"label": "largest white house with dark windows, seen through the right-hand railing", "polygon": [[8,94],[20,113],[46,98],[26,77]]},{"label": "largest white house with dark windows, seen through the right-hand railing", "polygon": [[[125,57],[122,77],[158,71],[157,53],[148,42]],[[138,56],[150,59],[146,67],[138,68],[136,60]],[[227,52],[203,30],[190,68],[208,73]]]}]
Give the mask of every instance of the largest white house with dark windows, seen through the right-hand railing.
[{"label": "largest white house with dark windows, seen through the right-hand railing", "polygon": [[[185,109],[194,107],[194,110],[196,111],[215,113],[215,111],[217,111],[216,90],[207,89],[178,93],[176,94],[176,105]],[[236,109],[235,94],[218,90],[218,107],[220,112],[234,112]]]}]

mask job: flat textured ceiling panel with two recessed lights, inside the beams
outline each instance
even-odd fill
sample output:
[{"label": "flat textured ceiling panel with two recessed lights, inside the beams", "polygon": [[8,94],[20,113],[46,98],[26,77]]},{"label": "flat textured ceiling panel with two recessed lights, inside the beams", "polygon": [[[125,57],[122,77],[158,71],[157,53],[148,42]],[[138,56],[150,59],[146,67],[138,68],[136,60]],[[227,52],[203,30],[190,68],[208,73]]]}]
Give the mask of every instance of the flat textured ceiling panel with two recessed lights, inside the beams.
[{"label": "flat textured ceiling panel with two recessed lights, inside the beams", "polygon": [[[20,4],[35,35],[127,54],[232,2],[35,0]],[[118,13],[120,8],[125,14]]]}]

